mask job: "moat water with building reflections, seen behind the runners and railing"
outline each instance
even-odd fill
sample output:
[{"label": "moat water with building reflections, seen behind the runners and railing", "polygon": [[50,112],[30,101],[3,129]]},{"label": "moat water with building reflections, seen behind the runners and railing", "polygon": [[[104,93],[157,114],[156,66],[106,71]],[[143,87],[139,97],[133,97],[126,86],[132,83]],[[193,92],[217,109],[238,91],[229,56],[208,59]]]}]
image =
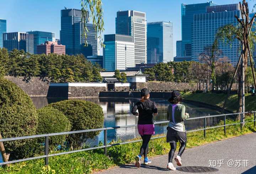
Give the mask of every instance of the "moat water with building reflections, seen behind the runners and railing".
[{"label": "moat water with building reflections, seen behind the runners and railing", "polygon": [[[47,105],[48,103],[58,102],[63,99],[46,99],[45,97],[32,97],[36,108],[42,108],[43,106]],[[94,103],[99,104],[104,113],[104,126],[105,127],[116,127],[116,126],[127,126],[137,124],[138,116],[134,116],[131,114],[131,110],[133,105],[139,99],[129,99],[129,98],[85,98],[83,100],[91,101]],[[167,106],[169,102],[166,100],[153,100],[156,102],[156,106],[158,108],[158,116],[154,117],[155,121],[165,121]],[[190,117],[199,117],[199,116],[206,116],[206,115],[216,115],[219,114],[218,111],[203,108],[200,106],[195,106],[189,103],[183,103],[186,105],[186,112],[190,114]],[[221,118],[213,117],[207,118],[207,125],[212,126],[219,122]],[[203,127],[203,119],[198,120],[190,120],[185,121],[186,129],[196,129],[199,127]],[[156,124],[155,125],[155,132],[156,134],[163,134],[166,133],[166,126],[167,124]],[[122,129],[112,129],[107,131],[107,141],[110,142],[112,140],[127,140],[132,139],[135,137],[139,137],[138,130],[136,127],[134,128],[122,128]],[[104,133],[101,132],[98,137],[95,137],[94,140],[89,140],[87,143],[90,145],[98,144],[99,141],[104,140]]]}]

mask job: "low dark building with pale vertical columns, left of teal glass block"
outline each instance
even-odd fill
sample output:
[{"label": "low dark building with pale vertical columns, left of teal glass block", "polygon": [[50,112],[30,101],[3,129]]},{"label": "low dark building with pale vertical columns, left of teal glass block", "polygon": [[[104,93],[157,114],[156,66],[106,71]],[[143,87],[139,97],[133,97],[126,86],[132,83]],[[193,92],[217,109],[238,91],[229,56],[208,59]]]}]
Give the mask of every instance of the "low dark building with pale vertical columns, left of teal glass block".
[{"label": "low dark building with pale vertical columns, left of teal glass block", "polygon": [[4,47],[8,51],[12,51],[16,48],[17,50],[24,50],[26,52],[27,35],[27,33],[22,32],[4,33]]}]

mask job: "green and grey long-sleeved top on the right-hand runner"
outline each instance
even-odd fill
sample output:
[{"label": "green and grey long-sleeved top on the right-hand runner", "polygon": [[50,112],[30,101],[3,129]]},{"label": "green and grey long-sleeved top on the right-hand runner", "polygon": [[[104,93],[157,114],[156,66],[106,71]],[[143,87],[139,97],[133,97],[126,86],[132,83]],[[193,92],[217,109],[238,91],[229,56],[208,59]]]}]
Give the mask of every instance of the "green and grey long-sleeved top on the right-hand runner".
[{"label": "green and grey long-sleeved top on the right-hand runner", "polygon": [[169,122],[169,127],[178,132],[186,132],[184,121],[189,118],[186,115],[186,108],[182,104],[170,104],[167,108],[167,119]]}]

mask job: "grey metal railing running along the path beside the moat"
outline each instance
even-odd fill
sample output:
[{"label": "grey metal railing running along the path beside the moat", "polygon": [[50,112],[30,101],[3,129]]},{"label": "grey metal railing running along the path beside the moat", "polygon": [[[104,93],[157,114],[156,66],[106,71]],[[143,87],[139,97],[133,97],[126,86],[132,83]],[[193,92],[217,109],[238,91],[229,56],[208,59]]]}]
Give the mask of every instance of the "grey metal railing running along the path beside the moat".
[{"label": "grey metal railing running along the path beside the moat", "polygon": [[[252,114],[252,113],[254,114],[254,120],[252,120],[252,121],[243,121],[243,117],[242,117],[243,114]],[[239,115],[239,114],[241,115],[241,120],[240,120],[239,123],[226,124],[226,116],[234,116],[234,115]],[[212,115],[212,116],[208,115],[208,116],[202,116],[202,117],[188,118],[187,120],[204,119],[204,126],[203,126],[202,129],[194,129],[194,130],[189,130],[187,132],[197,132],[197,131],[204,130],[204,137],[206,137],[206,130],[207,129],[224,127],[224,134],[226,135],[226,126],[232,126],[232,125],[240,124],[240,129],[242,129],[242,124],[245,124],[247,122],[254,122],[254,126],[255,126],[255,121],[256,121],[255,120],[255,114],[256,114],[256,111],[252,111],[252,112],[240,112],[240,113],[233,113],[233,114],[220,114],[220,115]],[[222,116],[224,116],[224,124],[223,125],[206,127],[206,118],[222,117]],[[159,121],[159,122],[156,122],[155,124],[163,124],[163,123],[169,123],[169,121]],[[60,133],[51,133],[51,134],[42,134],[42,135],[32,135],[32,136],[26,136],[26,137],[0,139],[0,142],[5,142],[5,141],[33,139],[33,138],[41,138],[41,137],[45,138],[45,140],[44,140],[44,143],[45,143],[45,145],[44,145],[44,155],[31,157],[31,158],[25,158],[25,159],[18,159],[18,160],[8,161],[8,162],[1,162],[0,165],[22,162],[22,161],[29,161],[29,160],[40,159],[40,158],[44,158],[45,165],[48,165],[48,163],[49,163],[48,159],[49,159],[49,157],[52,157],[52,156],[65,155],[65,154],[69,154],[69,153],[82,152],[82,151],[101,149],[101,148],[104,148],[105,155],[107,155],[107,147],[142,141],[141,139],[139,139],[139,140],[133,140],[133,141],[125,141],[125,142],[116,143],[116,144],[107,144],[107,130],[121,129],[121,128],[131,128],[131,127],[137,127],[137,124],[128,125],[128,126],[106,127],[106,128],[99,128],[99,129],[77,130],[77,131],[71,131],[71,132],[60,132]],[[57,136],[57,135],[67,135],[67,134],[102,131],[102,130],[104,131],[104,145],[103,146],[90,147],[90,148],[86,148],[86,149],[49,154],[49,137]],[[158,137],[153,137],[151,139],[163,138],[165,136],[166,135],[162,135],[162,136],[158,136]]]}]

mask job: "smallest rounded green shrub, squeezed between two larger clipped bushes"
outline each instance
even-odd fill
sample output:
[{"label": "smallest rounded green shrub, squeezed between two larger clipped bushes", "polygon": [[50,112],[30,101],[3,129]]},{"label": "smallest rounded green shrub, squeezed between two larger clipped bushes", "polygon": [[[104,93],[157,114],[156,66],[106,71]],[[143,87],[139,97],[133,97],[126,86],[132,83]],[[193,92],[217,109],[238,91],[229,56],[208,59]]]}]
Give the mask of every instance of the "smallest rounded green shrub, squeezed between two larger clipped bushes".
[{"label": "smallest rounded green shrub, squeezed between two larger clipped bushes", "polygon": [[[69,132],[71,123],[59,110],[52,107],[44,107],[37,110],[38,127],[37,134],[48,134],[57,132]],[[49,145],[63,145],[67,135],[49,137]]]}]

